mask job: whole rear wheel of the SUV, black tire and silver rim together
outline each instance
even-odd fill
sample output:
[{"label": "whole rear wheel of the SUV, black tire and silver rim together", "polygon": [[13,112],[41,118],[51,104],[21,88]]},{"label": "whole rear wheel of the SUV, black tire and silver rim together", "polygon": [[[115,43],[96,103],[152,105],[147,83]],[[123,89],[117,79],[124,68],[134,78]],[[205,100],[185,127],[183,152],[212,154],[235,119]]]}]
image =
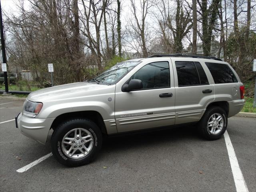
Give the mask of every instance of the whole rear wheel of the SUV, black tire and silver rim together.
[{"label": "whole rear wheel of the SUV, black tire and silver rim together", "polygon": [[204,116],[198,123],[198,129],[205,139],[216,140],[224,134],[227,124],[226,112],[218,106],[212,106],[204,113]]}]

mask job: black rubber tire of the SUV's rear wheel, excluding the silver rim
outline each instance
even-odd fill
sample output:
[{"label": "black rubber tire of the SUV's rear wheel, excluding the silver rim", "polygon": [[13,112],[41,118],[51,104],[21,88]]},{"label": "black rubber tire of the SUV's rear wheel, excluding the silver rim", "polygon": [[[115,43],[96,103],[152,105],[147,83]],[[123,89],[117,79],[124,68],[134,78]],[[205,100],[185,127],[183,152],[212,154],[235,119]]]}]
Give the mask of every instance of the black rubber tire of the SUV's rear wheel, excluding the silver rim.
[{"label": "black rubber tire of the SUV's rear wheel, excluding the silver rim", "polygon": [[[208,120],[215,113],[219,113],[223,116],[223,126],[218,134],[212,134],[208,129]],[[227,125],[228,125],[228,118],[225,110],[223,110],[221,107],[218,107],[218,106],[212,106],[206,109],[204,116],[199,121],[198,131],[201,134],[201,136],[206,140],[217,140],[221,138],[221,136],[224,134],[224,132],[227,129]]]}]

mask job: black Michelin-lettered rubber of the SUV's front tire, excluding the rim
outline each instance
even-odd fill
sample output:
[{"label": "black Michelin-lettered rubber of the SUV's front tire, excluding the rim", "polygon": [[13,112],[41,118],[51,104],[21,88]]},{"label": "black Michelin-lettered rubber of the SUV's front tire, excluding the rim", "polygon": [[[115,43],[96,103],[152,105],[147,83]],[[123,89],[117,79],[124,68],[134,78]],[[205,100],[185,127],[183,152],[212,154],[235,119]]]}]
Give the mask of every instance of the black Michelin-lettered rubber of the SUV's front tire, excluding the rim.
[{"label": "black Michelin-lettered rubber of the SUV's front tire, excluding the rim", "polygon": [[[62,139],[69,131],[75,128],[87,130],[93,138],[91,150],[86,154],[86,156],[81,158],[70,158],[70,156],[66,155],[62,150]],[[100,132],[100,128],[91,120],[84,118],[73,118],[63,122],[54,130],[51,138],[53,156],[58,162],[69,167],[81,166],[90,163],[100,151],[101,146],[102,133]]]}]

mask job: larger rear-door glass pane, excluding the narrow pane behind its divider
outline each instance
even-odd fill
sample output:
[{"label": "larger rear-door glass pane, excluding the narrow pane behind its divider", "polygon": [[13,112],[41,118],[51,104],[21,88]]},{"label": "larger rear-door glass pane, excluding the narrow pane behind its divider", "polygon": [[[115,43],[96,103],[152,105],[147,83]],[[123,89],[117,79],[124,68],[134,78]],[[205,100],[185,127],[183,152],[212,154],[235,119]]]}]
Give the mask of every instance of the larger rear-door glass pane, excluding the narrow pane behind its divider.
[{"label": "larger rear-door glass pane, excluding the narrow pane behind its divider", "polygon": [[179,86],[199,85],[199,77],[194,62],[176,61]]}]

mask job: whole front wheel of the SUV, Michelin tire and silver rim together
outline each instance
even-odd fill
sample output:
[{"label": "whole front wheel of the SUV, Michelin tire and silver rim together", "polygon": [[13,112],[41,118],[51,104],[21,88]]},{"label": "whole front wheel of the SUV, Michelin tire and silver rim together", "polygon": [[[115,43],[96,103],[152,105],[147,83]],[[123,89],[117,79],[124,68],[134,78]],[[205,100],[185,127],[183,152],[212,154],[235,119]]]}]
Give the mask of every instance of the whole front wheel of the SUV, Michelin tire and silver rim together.
[{"label": "whole front wheel of the SUV, Michelin tire and silver rim together", "polygon": [[66,166],[88,164],[98,154],[102,134],[98,126],[88,119],[74,118],[60,124],[51,139],[52,154]]}]

